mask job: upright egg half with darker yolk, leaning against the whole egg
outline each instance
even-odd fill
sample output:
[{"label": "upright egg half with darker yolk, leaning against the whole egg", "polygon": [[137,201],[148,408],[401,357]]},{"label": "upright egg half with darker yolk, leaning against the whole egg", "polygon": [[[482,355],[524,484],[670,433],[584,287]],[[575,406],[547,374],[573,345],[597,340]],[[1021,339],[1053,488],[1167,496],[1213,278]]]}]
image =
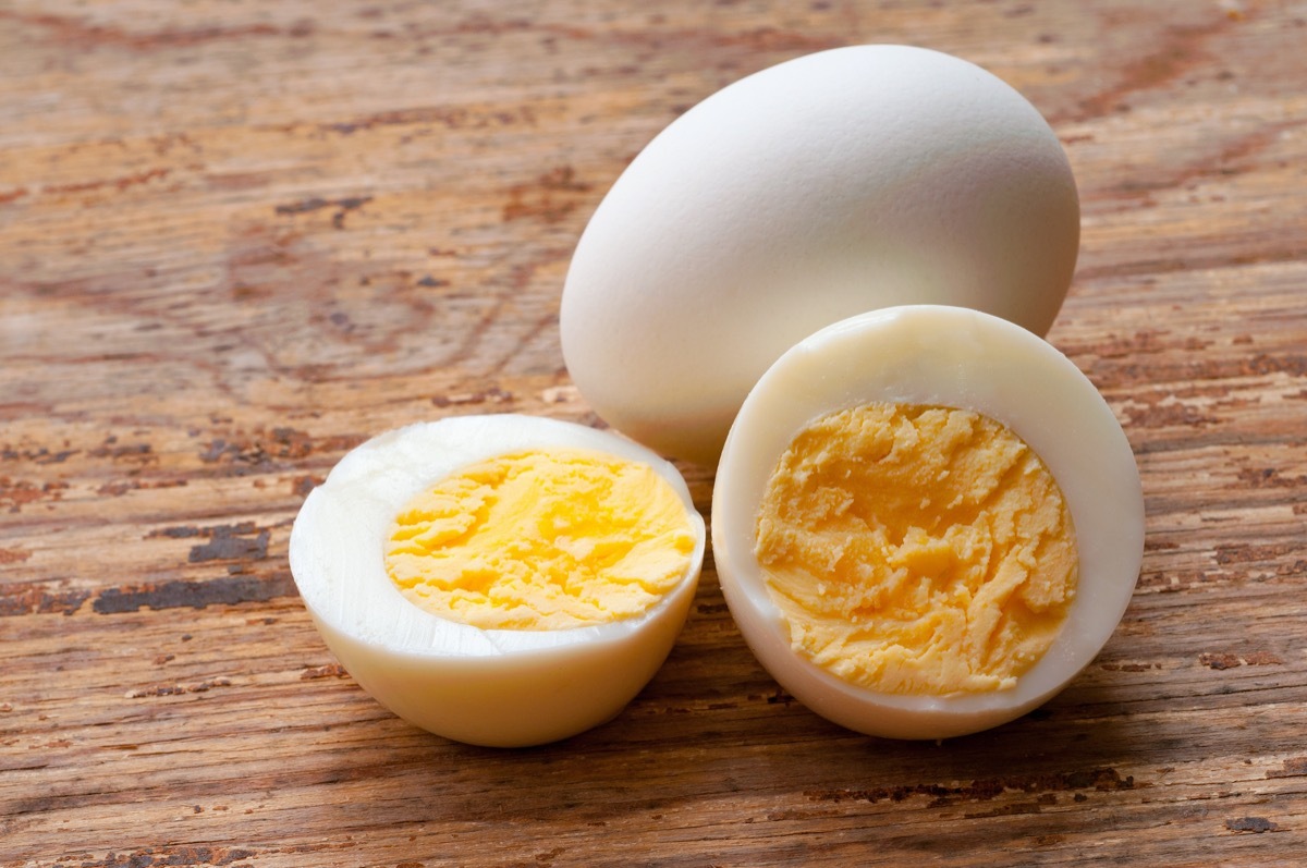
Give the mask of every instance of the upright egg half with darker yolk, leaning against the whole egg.
[{"label": "upright egg half with darker yolk, leaning against the whole egg", "polygon": [[859,732],[944,739],[1042,705],[1102,650],[1138,576],[1142,489],[1051,344],[890,307],[759,379],[718,465],[712,550],[786,690]]}]

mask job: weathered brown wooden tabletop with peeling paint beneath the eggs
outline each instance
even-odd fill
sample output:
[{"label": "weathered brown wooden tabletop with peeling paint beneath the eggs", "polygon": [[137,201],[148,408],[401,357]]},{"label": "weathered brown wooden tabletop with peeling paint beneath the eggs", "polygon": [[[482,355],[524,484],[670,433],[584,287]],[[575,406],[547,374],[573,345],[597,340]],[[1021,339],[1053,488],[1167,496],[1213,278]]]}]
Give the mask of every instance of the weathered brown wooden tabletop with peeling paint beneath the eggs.
[{"label": "weathered brown wooden tabletop with peeling paint beneath the eggs", "polygon": [[[0,0],[0,864],[1307,864],[1307,5],[697,7]],[[1149,514],[1102,656],[999,729],[861,737],[708,569],[605,727],[387,714],[295,596],[306,492],[416,420],[593,422],[557,311],[604,191],[855,42],[980,63],[1065,142],[1050,339]]]}]

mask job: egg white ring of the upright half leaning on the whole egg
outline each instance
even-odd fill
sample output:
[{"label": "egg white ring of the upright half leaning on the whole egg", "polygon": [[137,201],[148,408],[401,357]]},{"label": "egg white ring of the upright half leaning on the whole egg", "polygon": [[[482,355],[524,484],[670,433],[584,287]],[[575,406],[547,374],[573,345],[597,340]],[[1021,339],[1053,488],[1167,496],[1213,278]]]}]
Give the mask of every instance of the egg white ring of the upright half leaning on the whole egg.
[{"label": "egg white ring of the upright half leaning on the whole egg", "polygon": [[[796,655],[754,557],[758,509],[780,455],[808,422],[869,401],[978,410],[1030,444],[1057,480],[1080,550],[1080,582],[1053,646],[1010,690],[895,695],[848,684]],[[1093,383],[1051,344],[971,310],[903,306],[830,326],[793,346],[740,410],[718,465],[712,554],[745,641],[814,712],[893,739],[945,739],[1046,702],[1120,622],[1144,554],[1144,495],[1129,442]]]}]

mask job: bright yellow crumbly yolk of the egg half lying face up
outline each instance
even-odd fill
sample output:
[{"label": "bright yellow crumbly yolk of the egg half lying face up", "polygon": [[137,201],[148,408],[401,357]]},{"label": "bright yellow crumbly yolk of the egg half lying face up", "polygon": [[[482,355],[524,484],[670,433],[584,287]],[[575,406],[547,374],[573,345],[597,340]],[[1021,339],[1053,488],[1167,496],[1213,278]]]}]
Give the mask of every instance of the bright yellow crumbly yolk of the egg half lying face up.
[{"label": "bright yellow crumbly yolk of the egg half lying face up", "polygon": [[652,468],[584,451],[467,467],[396,516],[386,571],[418,607],[484,629],[640,614],[685,576],[686,507]]}]

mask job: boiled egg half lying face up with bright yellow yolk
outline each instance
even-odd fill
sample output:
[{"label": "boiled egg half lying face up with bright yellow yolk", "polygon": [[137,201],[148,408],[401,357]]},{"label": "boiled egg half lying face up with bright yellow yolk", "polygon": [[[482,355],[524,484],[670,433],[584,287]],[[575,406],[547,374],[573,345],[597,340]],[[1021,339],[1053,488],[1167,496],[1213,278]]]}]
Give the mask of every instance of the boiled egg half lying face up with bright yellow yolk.
[{"label": "boiled egg half lying face up with bright yellow yolk", "polygon": [[290,567],[327,646],[405,720],[524,746],[616,716],[694,599],[706,533],[677,469],[518,414],[410,425],[305,501]]}]

